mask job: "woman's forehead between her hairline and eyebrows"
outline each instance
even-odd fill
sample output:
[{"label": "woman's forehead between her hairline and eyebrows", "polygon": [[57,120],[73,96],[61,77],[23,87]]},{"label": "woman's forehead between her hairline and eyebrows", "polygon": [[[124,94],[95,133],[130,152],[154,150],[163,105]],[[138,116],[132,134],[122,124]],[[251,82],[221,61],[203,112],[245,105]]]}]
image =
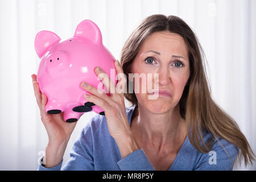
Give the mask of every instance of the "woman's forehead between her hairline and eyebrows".
[{"label": "woman's forehead between her hairline and eyebrows", "polygon": [[148,36],[144,40],[140,52],[148,50],[158,51],[161,54],[168,53],[188,56],[187,45],[183,37],[169,31],[158,31]]}]

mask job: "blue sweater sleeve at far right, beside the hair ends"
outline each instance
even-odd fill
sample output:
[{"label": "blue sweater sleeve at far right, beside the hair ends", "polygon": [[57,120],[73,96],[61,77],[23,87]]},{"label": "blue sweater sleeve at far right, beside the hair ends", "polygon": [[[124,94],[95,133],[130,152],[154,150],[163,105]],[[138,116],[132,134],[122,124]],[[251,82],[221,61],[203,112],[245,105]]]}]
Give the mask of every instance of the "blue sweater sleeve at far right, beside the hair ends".
[{"label": "blue sweater sleeve at far right, beside the hair ends", "polygon": [[[196,171],[232,171],[238,155],[238,148],[224,139],[219,139],[221,144],[216,142],[212,150],[204,154]],[[228,152],[228,154],[227,154]]]}]

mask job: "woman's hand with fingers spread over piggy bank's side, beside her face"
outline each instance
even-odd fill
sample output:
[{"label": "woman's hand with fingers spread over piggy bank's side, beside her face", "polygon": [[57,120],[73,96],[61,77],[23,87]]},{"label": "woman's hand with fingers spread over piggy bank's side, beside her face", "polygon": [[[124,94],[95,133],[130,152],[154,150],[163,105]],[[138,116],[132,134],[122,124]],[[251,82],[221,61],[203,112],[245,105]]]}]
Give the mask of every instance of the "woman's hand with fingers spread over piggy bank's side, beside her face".
[{"label": "woman's hand with fingers spread over piggy bank's side, beside her face", "polygon": [[[81,83],[81,87],[92,94],[85,94],[87,101],[93,102],[104,109],[109,133],[115,139],[123,158],[131,152],[138,150],[138,145],[130,130],[124,95],[123,92],[120,93],[119,88],[115,87],[114,82],[110,80],[109,76],[101,68],[97,68],[100,67],[96,67],[94,72],[111,95],[107,96],[102,90],[97,90],[97,88],[85,81]],[[124,86],[126,84],[126,77],[117,60],[115,61],[115,69],[117,70],[118,85]]]}]

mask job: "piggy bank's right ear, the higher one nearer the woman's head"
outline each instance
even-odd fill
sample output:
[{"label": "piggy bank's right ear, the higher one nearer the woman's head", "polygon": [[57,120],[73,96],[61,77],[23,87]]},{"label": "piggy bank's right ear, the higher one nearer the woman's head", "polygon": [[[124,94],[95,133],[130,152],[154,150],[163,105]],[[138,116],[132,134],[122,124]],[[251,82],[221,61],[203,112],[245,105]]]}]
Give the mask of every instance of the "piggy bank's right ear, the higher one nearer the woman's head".
[{"label": "piggy bank's right ear, the higher one nearer the woman's head", "polygon": [[74,36],[89,39],[93,43],[102,44],[100,28],[98,28],[94,22],[88,19],[79,23],[79,25],[76,27]]}]

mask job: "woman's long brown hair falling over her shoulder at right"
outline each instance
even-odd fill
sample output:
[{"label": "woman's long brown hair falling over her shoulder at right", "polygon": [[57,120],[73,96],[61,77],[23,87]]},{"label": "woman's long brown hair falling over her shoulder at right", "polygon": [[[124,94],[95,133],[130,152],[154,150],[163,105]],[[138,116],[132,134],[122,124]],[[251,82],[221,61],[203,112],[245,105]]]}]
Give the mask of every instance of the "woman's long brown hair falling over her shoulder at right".
[{"label": "woman's long brown hair falling over her shoulder at right", "polygon": [[[190,77],[183,90],[179,106],[181,117],[187,121],[187,131],[191,131],[188,138],[192,146],[198,151],[206,153],[212,148],[214,138],[220,137],[239,148],[238,160],[240,164],[242,158],[245,161],[245,165],[249,161],[252,164],[255,155],[236,121],[212,100],[205,69],[204,61],[206,59],[203,48],[201,48],[195,33],[182,19],[177,16],[165,15],[151,15],[144,19],[123,46],[121,53],[123,72],[127,77],[129,76],[131,64],[143,41],[156,31],[170,31],[179,34],[183,37],[188,47]],[[135,94],[128,92],[128,85],[129,82],[126,85],[127,93],[125,93],[125,98],[132,105],[138,106]],[[203,140],[202,127],[213,135],[212,140],[207,144]],[[203,146],[200,142],[203,143]]]}]

